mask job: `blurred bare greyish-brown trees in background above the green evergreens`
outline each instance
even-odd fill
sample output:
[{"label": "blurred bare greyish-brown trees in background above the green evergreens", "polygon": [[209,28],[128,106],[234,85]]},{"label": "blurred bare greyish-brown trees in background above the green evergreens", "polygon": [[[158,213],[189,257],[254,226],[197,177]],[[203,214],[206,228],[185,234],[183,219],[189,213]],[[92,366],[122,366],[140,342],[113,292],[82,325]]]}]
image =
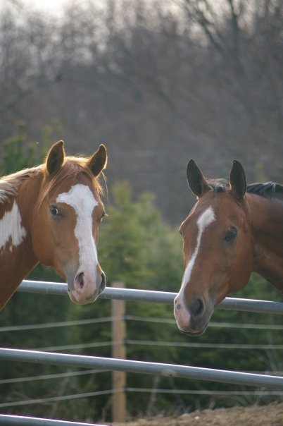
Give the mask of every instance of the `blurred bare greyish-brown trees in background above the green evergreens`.
[{"label": "blurred bare greyish-brown trees in background above the green evergreens", "polygon": [[0,140],[19,119],[39,140],[56,118],[70,153],[105,142],[109,187],[152,190],[171,224],[193,201],[191,157],[210,177],[237,158],[249,182],[258,162],[280,181],[282,18],[280,0],[72,1],[60,16],[6,0]]}]

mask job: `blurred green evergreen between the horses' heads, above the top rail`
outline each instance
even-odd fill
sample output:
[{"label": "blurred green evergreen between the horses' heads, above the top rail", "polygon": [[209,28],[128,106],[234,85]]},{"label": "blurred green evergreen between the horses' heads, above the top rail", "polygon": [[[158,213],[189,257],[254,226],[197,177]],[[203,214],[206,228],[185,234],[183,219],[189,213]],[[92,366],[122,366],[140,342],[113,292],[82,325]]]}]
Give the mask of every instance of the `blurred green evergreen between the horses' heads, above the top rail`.
[{"label": "blurred green evergreen between the horses' heads, above the top rail", "polygon": [[162,220],[153,194],[143,193],[132,202],[131,191],[127,182],[115,185],[114,203],[101,226],[99,259],[108,281],[159,290],[170,282],[173,290],[182,275],[180,236]]}]

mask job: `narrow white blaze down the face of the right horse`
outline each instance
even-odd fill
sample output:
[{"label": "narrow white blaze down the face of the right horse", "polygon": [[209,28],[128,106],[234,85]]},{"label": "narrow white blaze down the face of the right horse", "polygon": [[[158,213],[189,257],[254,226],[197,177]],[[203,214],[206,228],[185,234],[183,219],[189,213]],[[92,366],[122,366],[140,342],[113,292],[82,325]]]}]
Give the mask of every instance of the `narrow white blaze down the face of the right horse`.
[{"label": "narrow white blaze down the face of the right horse", "polygon": [[182,279],[182,285],[180,288],[179,293],[177,294],[175,298],[175,306],[179,305],[179,309],[175,309],[175,316],[177,319],[177,322],[184,322],[184,324],[189,324],[189,312],[187,311],[187,308],[184,305],[184,288],[189,283],[189,280],[191,279],[191,272],[194,268],[194,264],[196,262],[196,257],[199,252],[199,247],[201,245],[201,236],[203,234],[203,231],[206,229],[208,225],[210,225],[213,221],[215,221],[215,214],[213,212],[212,207],[208,207],[199,219],[197,220],[196,224],[199,229],[198,236],[196,238],[196,248],[194,249],[194,252],[191,256],[191,259],[189,260],[187,267],[184,271],[183,279]]}]

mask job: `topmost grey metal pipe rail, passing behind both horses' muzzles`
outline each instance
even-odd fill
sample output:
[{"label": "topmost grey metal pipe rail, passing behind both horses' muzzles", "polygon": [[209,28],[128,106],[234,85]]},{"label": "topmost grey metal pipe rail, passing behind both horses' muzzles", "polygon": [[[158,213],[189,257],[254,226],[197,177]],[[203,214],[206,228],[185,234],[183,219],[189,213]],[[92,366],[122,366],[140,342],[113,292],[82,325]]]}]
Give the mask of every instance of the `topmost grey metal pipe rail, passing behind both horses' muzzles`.
[{"label": "topmost grey metal pipe rail, passing behind both horses' muzzles", "polygon": [[[25,280],[18,287],[18,291],[28,293],[65,295],[68,286],[65,283]],[[173,303],[177,293],[166,291],[134,290],[132,288],[106,287],[101,293],[101,299],[122,299],[139,302]],[[225,310],[240,310],[244,312],[258,312],[265,314],[283,315],[283,303],[269,300],[253,300],[241,298],[225,298],[217,308]]]}]

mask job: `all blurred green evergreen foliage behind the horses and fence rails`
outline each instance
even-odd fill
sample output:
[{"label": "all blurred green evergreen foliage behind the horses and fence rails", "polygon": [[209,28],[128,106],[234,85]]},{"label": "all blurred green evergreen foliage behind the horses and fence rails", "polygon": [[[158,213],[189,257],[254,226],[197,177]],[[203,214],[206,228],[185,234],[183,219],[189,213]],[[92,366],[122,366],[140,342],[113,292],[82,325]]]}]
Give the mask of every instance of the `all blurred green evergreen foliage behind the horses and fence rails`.
[{"label": "all blurred green evergreen foliage behind the horses and fence rails", "polygon": [[[44,146],[50,142],[51,128],[44,133]],[[36,145],[27,142],[25,126],[18,127],[18,135],[4,144],[4,162],[2,171],[18,170],[42,162],[42,153]],[[44,152],[45,154],[45,152]],[[25,162],[23,162],[25,159]],[[171,229],[163,221],[156,208],[154,196],[144,193],[133,200],[132,189],[127,182],[113,186],[111,205],[106,206],[108,217],[100,227],[99,261],[106,272],[108,286],[115,281],[123,281],[128,288],[155,289],[158,291],[178,291],[182,278],[182,242],[177,229]],[[51,271],[39,265],[30,274],[31,279],[58,281]],[[260,276],[253,274],[249,284],[237,295],[243,298],[282,300]],[[157,303],[127,302],[126,312],[131,316],[127,320],[127,358],[155,361],[158,363],[177,363],[227,370],[282,370],[282,351],[271,349],[215,348],[199,344],[215,343],[250,345],[281,343],[280,333],[268,327],[251,329],[241,324],[280,324],[279,316],[251,314],[249,312],[227,311],[216,308],[212,324],[203,336],[188,338],[177,330],[173,319],[172,305]],[[100,322],[103,317],[111,317],[111,301],[97,300],[90,305],[74,305],[67,297],[39,296],[16,293],[11,302],[1,312],[1,325],[40,324],[64,321],[66,319],[97,319],[97,323],[72,327],[51,327],[30,331],[1,333],[0,345],[6,347],[45,348],[46,346],[79,345],[68,352],[80,354],[111,356],[111,321]],[[143,319],[156,319],[156,322]],[[158,322],[158,318],[169,322]],[[171,321],[171,322],[170,322]],[[213,327],[213,323],[228,323],[227,327]],[[231,324],[231,325],[229,325]],[[239,324],[235,328],[234,325]],[[42,340],[42,335],[44,339]],[[142,341],[142,344],[130,343]],[[168,346],[156,346],[156,341],[172,342]],[[102,343],[101,343],[102,342]],[[103,343],[105,342],[105,343]],[[197,347],[194,345],[196,344]],[[21,363],[6,363],[2,379],[26,377],[48,373],[66,372],[65,367],[40,366]],[[69,369],[72,372],[73,369]],[[157,394],[156,387],[165,389],[191,390],[237,390],[239,387],[205,382],[184,380],[173,377],[152,377],[151,375],[127,375],[127,387],[152,389],[153,393],[127,393],[127,407],[130,415],[139,413],[168,413],[172,410],[206,408],[210,406],[230,406],[234,403],[254,403],[255,398],[209,398],[175,394]],[[99,372],[92,375],[49,379],[37,382],[6,384],[0,389],[1,401],[17,401],[24,398],[43,398],[80,394],[84,392],[107,391],[111,389],[111,372]],[[244,390],[241,388],[241,390]],[[249,390],[249,389],[248,389]],[[20,396],[22,396],[20,398]],[[8,408],[9,412],[25,415],[39,415],[72,420],[108,420],[110,418],[111,397],[109,395],[73,399],[62,403],[34,404],[24,408]],[[154,403],[153,403],[154,401]],[[268,396],[257,402],[268,402]],[[4,411],[3,411],[4,412]],[[8,412],[8,411],[6,411]]]}]

